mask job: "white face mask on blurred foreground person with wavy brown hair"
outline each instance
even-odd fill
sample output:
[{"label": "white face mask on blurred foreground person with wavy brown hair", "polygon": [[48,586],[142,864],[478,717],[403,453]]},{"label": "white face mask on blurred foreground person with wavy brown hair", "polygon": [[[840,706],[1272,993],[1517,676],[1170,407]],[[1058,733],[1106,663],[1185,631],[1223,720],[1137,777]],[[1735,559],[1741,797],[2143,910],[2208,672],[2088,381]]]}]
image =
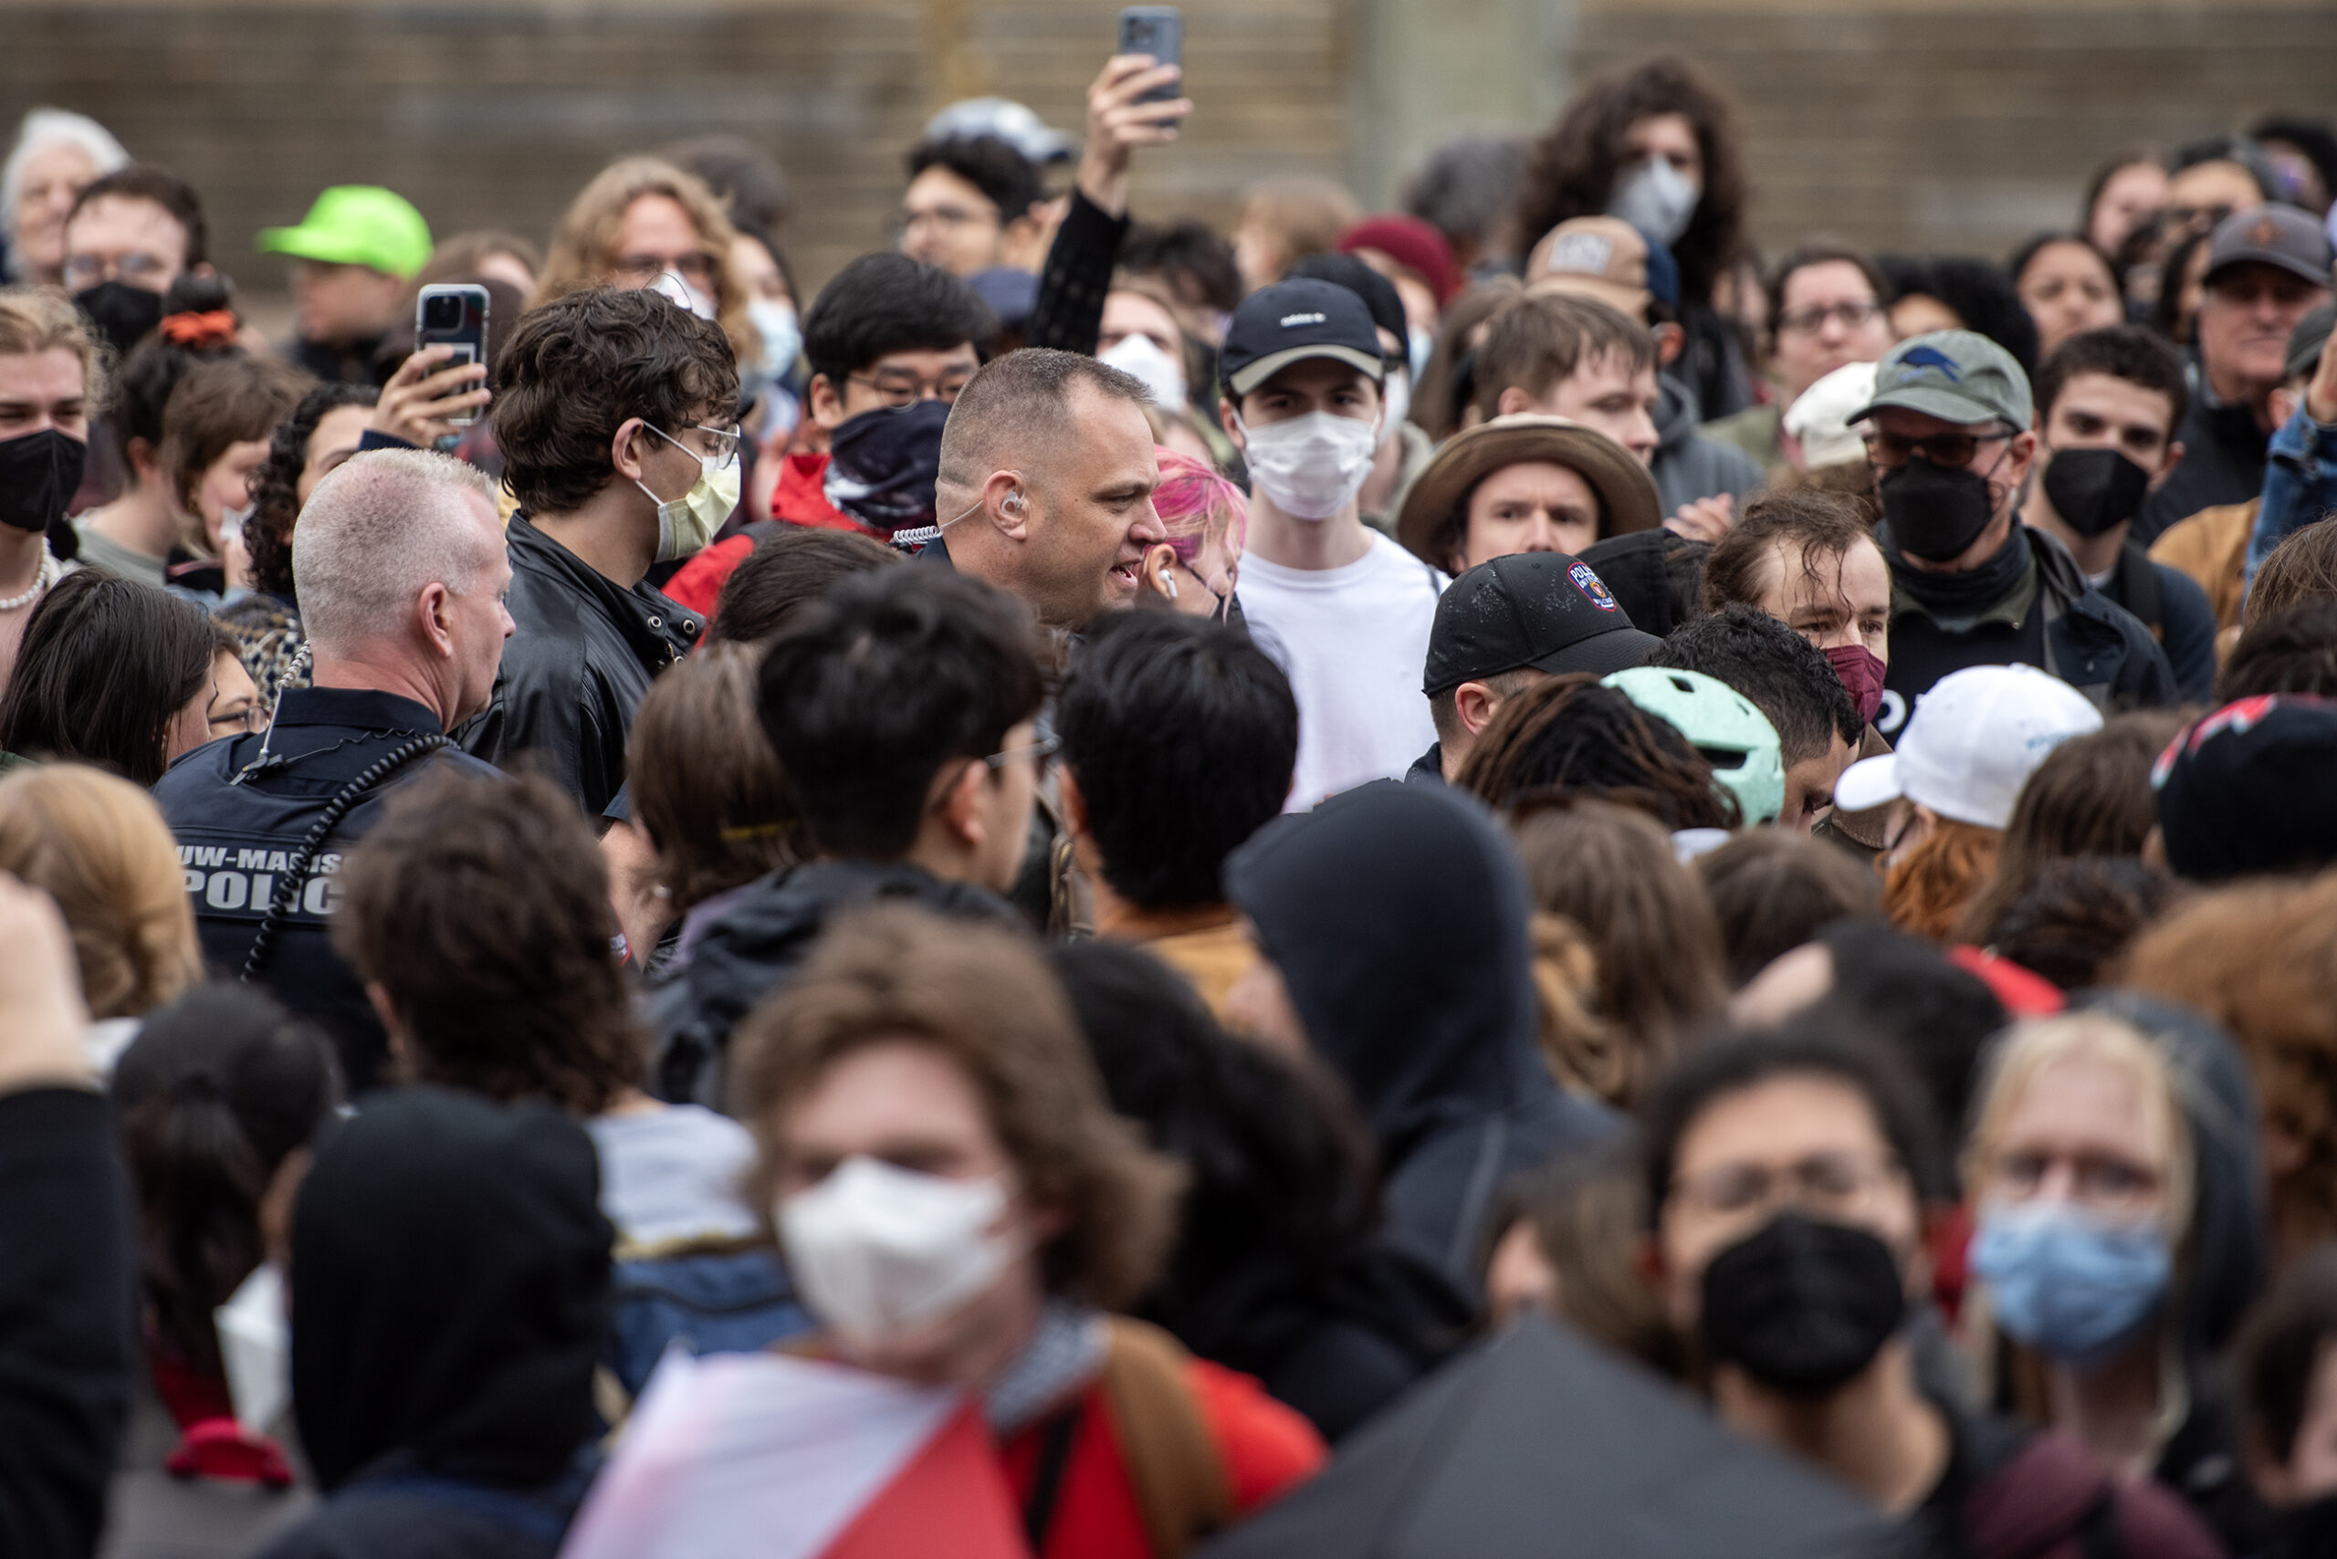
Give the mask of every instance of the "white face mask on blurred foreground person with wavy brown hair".
[{"label": "white face mask on blurred foreground person with wavy brown hair", "polygon": [[883,1342],[939,1321],[998,1281],[1017,1255],[993,1232],[998,1180],[944,1180],[867,1157],[778,1204],[788,1272],[825,1325]]}]

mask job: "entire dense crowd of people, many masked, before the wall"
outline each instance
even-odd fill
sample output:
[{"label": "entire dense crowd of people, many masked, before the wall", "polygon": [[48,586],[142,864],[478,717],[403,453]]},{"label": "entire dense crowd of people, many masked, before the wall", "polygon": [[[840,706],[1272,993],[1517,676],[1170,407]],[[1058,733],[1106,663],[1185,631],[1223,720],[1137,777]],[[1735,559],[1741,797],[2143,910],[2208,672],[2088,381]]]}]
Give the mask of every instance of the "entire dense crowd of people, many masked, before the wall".
[{"label": "entire dense crowd of people, many masked, before the wall", "polygon": [[1685,58],[1232,234],[1194,112],[818,292],[729,138],[332,187],[290,341],[26,117],[0,1552],[2337,1552],[2330,124],[1996,264]]}]

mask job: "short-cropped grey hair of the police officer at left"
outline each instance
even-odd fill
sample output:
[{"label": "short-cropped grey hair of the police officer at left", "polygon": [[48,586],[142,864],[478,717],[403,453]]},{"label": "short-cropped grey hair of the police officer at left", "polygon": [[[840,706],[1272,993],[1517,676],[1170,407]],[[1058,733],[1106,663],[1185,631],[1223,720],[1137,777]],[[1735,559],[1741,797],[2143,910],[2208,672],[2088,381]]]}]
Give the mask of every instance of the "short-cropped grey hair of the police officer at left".
[{"label": "short-cropped grey hair of the police officer at left", "polygon": [[367,449],[308,496],[292,528],[301,624],[325,654],[402,633],[430,584],[465,596],[502,554],[460,496],[495,512],[495,484],[428,449]]}]

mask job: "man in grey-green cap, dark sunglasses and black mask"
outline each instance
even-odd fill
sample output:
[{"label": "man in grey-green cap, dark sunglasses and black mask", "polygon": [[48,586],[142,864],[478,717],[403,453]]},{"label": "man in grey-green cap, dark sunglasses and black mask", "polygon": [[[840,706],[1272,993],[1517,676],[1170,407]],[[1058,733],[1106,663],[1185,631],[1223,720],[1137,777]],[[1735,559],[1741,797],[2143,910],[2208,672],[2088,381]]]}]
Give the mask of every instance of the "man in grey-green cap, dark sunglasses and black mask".
[{"label": "man in grey-green cap, dark sunglasses and black mask", "polygon": [[1893,346],[1865,423],[1891,561],[1891,668],[1877,729],[1895,734],[1933,683],[1965,666],[2038,666],[2103,708],[2176,701],[2131,612],[2052,535],[2019,521],[2036,460],[2029,376],[1996,341],[1937,330]]}]

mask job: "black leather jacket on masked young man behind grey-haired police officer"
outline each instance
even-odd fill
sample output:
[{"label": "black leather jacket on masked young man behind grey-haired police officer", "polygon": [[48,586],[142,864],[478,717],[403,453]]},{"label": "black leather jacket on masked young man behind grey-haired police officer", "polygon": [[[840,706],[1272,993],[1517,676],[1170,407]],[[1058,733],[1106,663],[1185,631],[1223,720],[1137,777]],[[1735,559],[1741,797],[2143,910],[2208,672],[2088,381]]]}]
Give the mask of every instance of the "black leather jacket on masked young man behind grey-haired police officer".
[{"label": "black leather jacket on masked young man behind grey-haired police officer", "polygon": [[516,626],[493,701],[456,739],[495,764],[535,753],[584,816],[598,818],[624,785],[624,741],[640,697],[703,624],[647,584],[619,589],[526,514],[514,514],[505,535]]}]

